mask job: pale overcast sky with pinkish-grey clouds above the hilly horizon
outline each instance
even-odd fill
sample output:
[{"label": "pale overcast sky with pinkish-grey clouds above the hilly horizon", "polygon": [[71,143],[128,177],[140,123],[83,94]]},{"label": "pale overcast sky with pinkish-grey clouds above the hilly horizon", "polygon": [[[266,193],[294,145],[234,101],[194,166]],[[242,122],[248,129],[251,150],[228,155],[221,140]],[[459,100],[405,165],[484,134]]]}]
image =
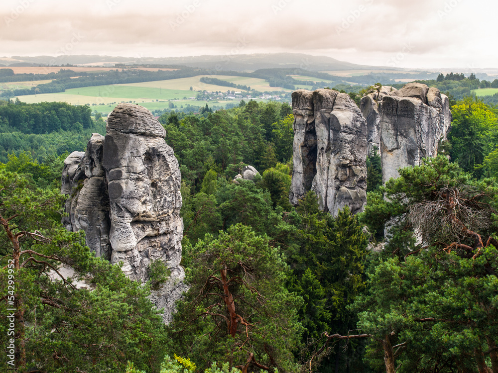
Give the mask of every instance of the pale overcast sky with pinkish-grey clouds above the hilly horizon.
[{"label": "pale overcast sky with pinkish-grey clouds above the hilly horizon", "polygon": [[1,0],[0,56],[298,52],[366,65],[498,68],[497,1]]}]

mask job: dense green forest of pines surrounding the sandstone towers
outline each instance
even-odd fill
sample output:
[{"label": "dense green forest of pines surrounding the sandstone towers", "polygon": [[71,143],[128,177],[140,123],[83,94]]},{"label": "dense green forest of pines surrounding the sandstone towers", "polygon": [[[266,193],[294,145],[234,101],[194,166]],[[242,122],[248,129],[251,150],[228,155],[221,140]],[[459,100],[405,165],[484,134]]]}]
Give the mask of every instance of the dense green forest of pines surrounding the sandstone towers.
[{"label": "dense green forest of pines surrounding the sandstone towers", "polygon": [[[498,373],[498,107],[463,95],[451,105],[438,157],[383,186],[374,151],[365,211],[337,217],[313,192],[289,203],[289,104],[162,114],[189,285],[164,325],[148,298],[156,278],[129,280],[60,223],[64,160],[105,135],[103,118],[0,101],[1,361],[15,350],[18,373]],[[259,175],[234,183],[247,165]],[[61,265],[90,286],[54,280]]]}]

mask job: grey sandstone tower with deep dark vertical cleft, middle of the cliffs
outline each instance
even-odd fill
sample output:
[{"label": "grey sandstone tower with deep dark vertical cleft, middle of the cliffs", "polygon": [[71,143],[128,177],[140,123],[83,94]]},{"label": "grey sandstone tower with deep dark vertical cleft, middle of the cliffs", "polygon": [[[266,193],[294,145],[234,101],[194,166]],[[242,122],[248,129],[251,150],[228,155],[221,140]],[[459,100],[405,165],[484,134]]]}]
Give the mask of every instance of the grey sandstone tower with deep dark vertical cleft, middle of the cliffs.
[{"label": "grey sandstone tower with deep dark vertical cleft, middle of the cliffs", "polygon": [[308,190],[333,215],[348,205],[353,213],[367,201],[367,121],[348,94],[333,90],[292,93],[294,170],[289,199]]}]

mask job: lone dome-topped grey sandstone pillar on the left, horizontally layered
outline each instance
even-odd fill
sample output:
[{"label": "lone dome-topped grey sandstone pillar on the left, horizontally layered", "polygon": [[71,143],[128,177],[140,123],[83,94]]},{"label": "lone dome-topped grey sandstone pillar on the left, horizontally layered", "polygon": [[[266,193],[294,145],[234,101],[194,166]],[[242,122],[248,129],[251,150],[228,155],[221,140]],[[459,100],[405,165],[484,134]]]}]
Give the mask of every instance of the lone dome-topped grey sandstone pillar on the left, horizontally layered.
[{"label": "lone dome-topped grey sandstone pillar on the left, horizontally layered", "polygon": [[87,151],[65,161],[61,191],[69,194],[63,223],[83,229],[87,245],[111,263],[123,262],[132,280],[148,280],[151,261],[166,263],[169,281],[151,299],[169,322],[184,278],[181,175],[164,128],[138,105],[120,104],[109,115],[106,137],[94,134]]}]

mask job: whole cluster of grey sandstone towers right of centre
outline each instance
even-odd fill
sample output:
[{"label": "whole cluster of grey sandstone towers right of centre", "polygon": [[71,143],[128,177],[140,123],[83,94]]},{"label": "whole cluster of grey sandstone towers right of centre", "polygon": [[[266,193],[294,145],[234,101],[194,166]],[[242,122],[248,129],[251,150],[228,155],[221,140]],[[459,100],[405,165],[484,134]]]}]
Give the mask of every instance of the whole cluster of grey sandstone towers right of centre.
[{"label": "whole cluster of grey sandstone towers right of centre", "polygon": [[345,205],[354,213],[363,210],[365,160],[374,146],[380,151],[385,183],[397,178],[400,168],[435,157],[452,120],[448,97],[418,83],[366,95],[361,112],[347,94],[332,90],[298,90],[292,94],[292,108],[290,202],[295,205],[314,190],[320,208],[332,214]]}]

